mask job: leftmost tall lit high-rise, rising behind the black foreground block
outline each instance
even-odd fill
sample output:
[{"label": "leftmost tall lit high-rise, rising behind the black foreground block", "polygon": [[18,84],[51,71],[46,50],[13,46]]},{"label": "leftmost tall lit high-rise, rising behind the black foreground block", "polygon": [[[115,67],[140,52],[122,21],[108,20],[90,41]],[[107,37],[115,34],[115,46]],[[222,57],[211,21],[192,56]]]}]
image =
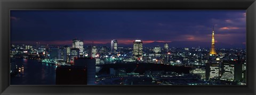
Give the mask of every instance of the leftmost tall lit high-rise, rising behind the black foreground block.
[{"label": "leftmost tall lit high-rise, rising behind the black foreground block", "polygon": [[84,42],[82,40],[73,39],[72,48],[79,49],[79,55],[83,55],[84,53]]}]

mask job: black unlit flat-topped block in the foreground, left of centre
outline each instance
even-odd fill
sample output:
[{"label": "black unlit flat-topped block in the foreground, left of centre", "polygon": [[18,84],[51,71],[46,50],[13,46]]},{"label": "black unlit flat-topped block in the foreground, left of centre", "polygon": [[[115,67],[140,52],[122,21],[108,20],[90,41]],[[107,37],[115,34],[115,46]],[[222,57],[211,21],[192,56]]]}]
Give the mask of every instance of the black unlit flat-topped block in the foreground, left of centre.
[{"label": "black unlit flat-topped block in the foreground, left of centre", "polygon": [[57,85],[87,85],[87,68],[83,66],[58,66]]}]

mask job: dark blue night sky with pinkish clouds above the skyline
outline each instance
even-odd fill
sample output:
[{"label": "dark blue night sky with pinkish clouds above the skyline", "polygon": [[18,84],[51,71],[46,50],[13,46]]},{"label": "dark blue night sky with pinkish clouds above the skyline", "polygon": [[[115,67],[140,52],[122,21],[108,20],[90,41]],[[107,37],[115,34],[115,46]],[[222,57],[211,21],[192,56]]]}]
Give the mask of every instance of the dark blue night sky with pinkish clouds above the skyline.
[{"label": "dark blue night sky with pinkish clouds above the skyline", "polygon": [[[215,45],[245,47],[246,10],[77,10],[11,11],[11,43],[71,45],[132,45],[135,39],[150,42],[202,43],[211,47],[214,25]],[[175,47],[175,46],[173,46]],[[189,46],[188,46],[189,47]]]}]

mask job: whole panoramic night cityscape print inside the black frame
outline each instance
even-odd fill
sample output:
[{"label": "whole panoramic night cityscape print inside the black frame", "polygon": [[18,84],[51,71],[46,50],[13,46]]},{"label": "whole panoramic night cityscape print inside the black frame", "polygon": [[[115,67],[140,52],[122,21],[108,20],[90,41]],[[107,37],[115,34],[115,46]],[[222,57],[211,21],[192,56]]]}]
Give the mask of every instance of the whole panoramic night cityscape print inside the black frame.
[{"label": "whole panoramic night cityscape print inside the black frame", "polygon": [[246,85],[245,10],[10,16],[14,85]]}]

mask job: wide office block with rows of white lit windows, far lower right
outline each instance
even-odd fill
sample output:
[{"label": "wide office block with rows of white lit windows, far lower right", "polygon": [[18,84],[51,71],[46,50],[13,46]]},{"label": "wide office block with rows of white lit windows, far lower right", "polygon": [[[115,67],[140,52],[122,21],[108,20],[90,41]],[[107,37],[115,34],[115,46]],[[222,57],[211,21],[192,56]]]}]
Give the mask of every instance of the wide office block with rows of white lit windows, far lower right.
[{"label": "wide office block with rows of white lit windows, far lower right", "polygon": [[222,75],[220,80],[241,81],[242,70],[242,64],[238,61],[223,61],[221,67]]}]

